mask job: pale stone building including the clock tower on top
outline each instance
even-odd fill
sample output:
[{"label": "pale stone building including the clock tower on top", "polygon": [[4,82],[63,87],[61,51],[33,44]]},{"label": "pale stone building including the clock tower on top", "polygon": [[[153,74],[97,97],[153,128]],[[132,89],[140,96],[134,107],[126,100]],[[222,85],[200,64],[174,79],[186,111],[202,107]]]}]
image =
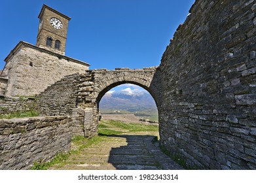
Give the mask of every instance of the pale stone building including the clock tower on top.
[{"label": "pale stone building including the clock tower on top", "polygon": [[65,56],[71,18],[46,5],[38,18],[36,46],[20,41],[5,58],[5,68],[0,73],[0,95],[36,95],[64,76],[88,70],[88,63]]}]

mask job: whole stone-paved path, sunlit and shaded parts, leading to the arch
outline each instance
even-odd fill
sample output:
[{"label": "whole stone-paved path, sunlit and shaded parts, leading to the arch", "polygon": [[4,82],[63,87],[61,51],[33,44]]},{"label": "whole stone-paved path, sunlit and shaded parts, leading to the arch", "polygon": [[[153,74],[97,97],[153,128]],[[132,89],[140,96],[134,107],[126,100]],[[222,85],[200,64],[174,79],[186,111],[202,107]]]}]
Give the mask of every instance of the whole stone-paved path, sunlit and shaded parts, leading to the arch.
[{"label": "whole stone-paved path, sunlit and shaded parts, leading to the arch", "polygon": [[153,144],[154,138],[153,135],[109,135],[105,141],[71,155],[64,167],[52,169],[183,169]]}]

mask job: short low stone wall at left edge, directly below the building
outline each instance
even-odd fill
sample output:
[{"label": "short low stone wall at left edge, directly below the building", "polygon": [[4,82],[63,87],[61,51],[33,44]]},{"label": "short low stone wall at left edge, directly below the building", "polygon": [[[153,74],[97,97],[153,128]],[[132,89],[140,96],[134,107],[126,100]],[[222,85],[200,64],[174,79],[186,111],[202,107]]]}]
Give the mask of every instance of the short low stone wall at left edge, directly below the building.
[{"label": "short low stone wall at left edge, directly below the building", "polygon": [[5,97],[0,95],[0,114],[22,112],[34,107],[33,98]]}]

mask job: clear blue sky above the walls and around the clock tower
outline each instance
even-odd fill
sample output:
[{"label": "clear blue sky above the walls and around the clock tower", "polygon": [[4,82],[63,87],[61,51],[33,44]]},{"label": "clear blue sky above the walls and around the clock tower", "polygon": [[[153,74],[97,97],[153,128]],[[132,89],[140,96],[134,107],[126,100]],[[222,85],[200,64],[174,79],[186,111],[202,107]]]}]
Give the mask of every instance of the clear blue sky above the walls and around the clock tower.
[{"label": "clear blue sky above the walls and around the clock tower", "polygon": [[71,17],[65,55],[90,69],[140,69],[160,64],[194,0],[9,0],[0,6],[0,69],[19,41],[35,44],[46,4]]}]

